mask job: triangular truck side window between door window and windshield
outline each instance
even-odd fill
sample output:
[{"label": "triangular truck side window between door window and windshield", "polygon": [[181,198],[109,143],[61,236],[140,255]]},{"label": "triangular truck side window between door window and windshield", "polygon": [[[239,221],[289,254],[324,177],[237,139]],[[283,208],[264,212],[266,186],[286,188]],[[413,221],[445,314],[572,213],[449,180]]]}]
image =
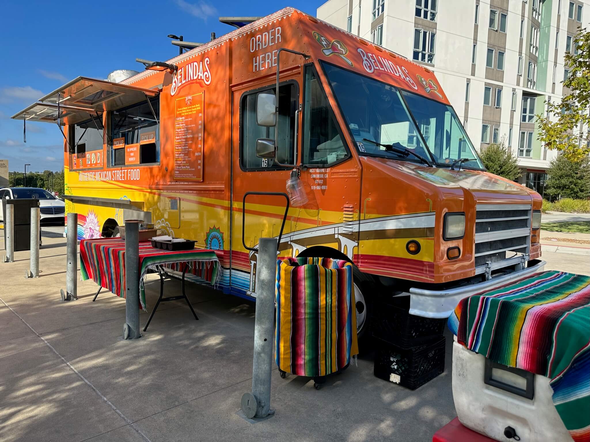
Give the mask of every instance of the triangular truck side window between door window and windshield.
[{"label": "triangular truck side window between door window and windshield", "polygon": [[342,131],[312,65],[305,68],[303,159],[309,166],[326,166],[348,156]]}]

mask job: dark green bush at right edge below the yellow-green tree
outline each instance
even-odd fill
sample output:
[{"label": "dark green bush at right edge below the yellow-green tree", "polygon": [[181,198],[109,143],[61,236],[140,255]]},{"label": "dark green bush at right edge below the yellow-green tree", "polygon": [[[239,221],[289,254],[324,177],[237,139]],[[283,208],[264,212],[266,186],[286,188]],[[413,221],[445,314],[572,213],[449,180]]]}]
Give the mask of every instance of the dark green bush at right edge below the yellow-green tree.
[{"label": "dark green bush at right edge below the yellow-green tree", "polygon": [[590,197],[590,159],[569,160],[559,155],[549,163],[545,193],[559,198]]}]

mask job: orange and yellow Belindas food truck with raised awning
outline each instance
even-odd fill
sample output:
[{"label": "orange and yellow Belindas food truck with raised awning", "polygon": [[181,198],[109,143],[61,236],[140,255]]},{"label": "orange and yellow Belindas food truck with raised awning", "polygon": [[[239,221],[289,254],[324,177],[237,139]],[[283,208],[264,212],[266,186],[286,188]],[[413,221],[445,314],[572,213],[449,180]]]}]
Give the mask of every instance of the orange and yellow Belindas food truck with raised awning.
[{"label": "orange and yellow Belindas food truck with raised awning", "polygon": [[444,318],[545,264],[541,197],[486,172],[434,72],[293,8],[119,83],[78,77],[13,118],[63,131],[80,238],[146,220],[222,250],[222,290],[248,299],[286,198],[245,196],[290,180],[279,256],[352,262],[360,335],[376,293]]}]

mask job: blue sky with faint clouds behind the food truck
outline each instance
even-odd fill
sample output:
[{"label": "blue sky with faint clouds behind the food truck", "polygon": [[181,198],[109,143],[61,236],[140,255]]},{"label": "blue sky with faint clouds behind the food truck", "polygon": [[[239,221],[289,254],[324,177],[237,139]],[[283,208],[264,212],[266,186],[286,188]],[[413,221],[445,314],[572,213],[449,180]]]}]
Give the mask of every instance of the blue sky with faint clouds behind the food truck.
[{"label": "blue sky with faint clouds behind the food truck", "polygon": [[316,15],[324,0],[142,2],[8,1],[0,26],[0,159],[9,170],[61,170],[63,136],[57,125],[27,123],[10,117],[78,75],[106,78],[116,69],[141,71],[135,58],[165,61],[178,55],[168,34],[207,42],[232,27],[219,16],[264,16],[285,6]]}]

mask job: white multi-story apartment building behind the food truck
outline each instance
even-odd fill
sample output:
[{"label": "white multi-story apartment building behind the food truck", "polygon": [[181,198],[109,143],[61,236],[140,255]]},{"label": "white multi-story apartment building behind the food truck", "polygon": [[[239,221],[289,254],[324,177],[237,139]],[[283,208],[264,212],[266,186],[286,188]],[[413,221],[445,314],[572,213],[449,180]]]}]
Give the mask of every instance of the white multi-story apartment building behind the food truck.
[{"label": "white multi-story apartment building behind the food truck", "polygon": [[536,114],[561,100],[588,0],[329,0],[317,17],[437,74],[474,146],[502,138],[520,183],[543,193],[556,151],[537,140]]}]

